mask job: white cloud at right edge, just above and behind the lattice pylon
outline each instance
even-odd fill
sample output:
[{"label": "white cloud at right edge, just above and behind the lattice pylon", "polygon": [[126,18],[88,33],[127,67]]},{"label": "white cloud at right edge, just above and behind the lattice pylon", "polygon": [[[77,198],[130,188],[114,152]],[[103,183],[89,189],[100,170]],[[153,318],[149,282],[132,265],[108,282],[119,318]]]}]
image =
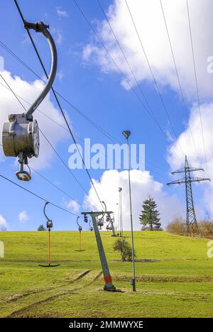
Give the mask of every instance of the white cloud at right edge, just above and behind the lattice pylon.
[{"label": "white cloud at right edge, just above and behind the lattice pylon", "polygon": [[[212,123],[213,123],[213,103],[201,105],[202,128],[204,134],[204,145],[202,140],[202,131],[200,126],[200,111],[197,106],[193,106],[190,115],[190,126],[187,126],[178,140],[171,145],[168,150],[168,162],[172,170],[183,167],[184,157],[180,152],[179,145],[187,155],[187,160],[192,167],[202,167],[205,172],[193,172],[192,176],[213,179],[213,147],[212,147]],[[193,133],[195,146],[190,135],[190,129]],[[204,147],[207,155],[207,164],[205,159]],[[200,197],[202,202],[202,216],[204,211],[209,211],[213,215],[213,182],[200,182],[197,184],[204,191],[204,197]],[[195,188],[195,187],[194,187]]]}]

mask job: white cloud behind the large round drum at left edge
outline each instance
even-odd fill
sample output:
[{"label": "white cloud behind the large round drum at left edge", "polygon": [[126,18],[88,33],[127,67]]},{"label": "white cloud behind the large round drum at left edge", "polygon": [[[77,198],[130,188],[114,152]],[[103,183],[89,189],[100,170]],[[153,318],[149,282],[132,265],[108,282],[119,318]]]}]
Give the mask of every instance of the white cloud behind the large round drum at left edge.
[{"label": "white cloud behind the large round drum at left edge", "polygon": [[[1,74],[6,79],[6,82],[9,83],[13,91],[16,94],[22,96],[23,99],[26,99],[26,101],[33,103],[35,98],[38,96],[38,94],[40,94],[41,90],[43,89],[43,83],[39,80],[35,80],[34,82],[26,82],[20,77],[12,77],[11,73],[7,71],[1,72]],[[5,85],[5,83],[2,82],[1,79],[0,82]],[[21,114],[23,112],[23,108],[15,99],[13,94],[11,94],[10,90],[6,89],[1,84],[0,94],[0,127],[2,128],[3,123],[8,121],[9,114]],[[28,104],[26,104],[24,101],[22,101],[22,103],[24,106],[26,106],[26,108],[29,107]],[[45,97],[44,101],[40,104],[38,109],[48,117],[53,118],[54,121],[60,123],[60,125],[65,126],[62,116],[60,115],[59,111],[55,109],[53,102],[50,101],[50,94]],[[41,131],[43,131],[43,133],[45,133],[53,146],[55,146],[61,140],[67,138],[67,132],[63,128],[58,126],[56,123],[53,123],[50,118],[43,116],[43,114],[41,114],[38,110],[35,111],[33,117],[38,121],[39,128],[41,129]],[[55,135],[55,133],[57,133],[57,135]],[[43,138],[43,135],[40,134],[39,156],[38,158],[33,157],[32,159],[30,159],[29,165],[31,165],[35,169],[43,169],[45,167],[50,167],[50,162],[53,155],[53,149],[50,148],[48,142],[45,140],[45,138]],[[3,156],[3,153],[1,152],[0,161],[2,161],[2,158],[6,160]]]}]

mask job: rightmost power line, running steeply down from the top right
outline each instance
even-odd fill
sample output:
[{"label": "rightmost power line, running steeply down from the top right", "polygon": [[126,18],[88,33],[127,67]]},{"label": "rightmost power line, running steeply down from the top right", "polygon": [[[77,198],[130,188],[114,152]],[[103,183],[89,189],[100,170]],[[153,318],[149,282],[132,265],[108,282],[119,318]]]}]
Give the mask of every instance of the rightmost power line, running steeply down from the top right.
[{"label": "rightmost power line, running steeply down from the top right", "polygon": [[197,72],[196,72],[196,65],[195,65],[195,53],[194,53],[194,46],[193,46],[193,40],[192,40],[192,28],[191,28],[191,23],[190,23],[190,11],[189,11],[189,6],[188,6],[188,0],[187,0],[187,17],[188,17],[188,23],[189,23],[189,29],[190,29],[190,43],[191,43],[191,48],[192,48],[193,68],[194,68],[194,74],[195,74],[197,104],[198,104],[199,114],[200,114],[200,127],[201,127],[201,131],[202,131],[202,143],[203,143],[204,156],[205,156],[206,167],[207,167],[207,172],[208,172],[207,153],[206,153],[205,142],[204,142],[204,133],[203,133],[203,128],[202,128],[202,115],[201,115],[201,109],[200,109],[200,96],[199,96],[199,91],[198,91]]}]

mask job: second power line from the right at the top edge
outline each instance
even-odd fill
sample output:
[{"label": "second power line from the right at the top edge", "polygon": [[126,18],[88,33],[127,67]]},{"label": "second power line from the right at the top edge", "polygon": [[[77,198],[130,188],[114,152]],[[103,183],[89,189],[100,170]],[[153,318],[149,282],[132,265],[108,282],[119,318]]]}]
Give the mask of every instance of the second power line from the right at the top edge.
[{"label": "second power line from the right at the top edge", "polygon": [[[166,30],[167,35],[168,35],[168,41],[169,41],[169,44],[170,44],[170,50],[171,50],[172,57],[173,57],[173,63],[174,63],[174,67],[175,67],[176,76],[177,76],[177,79],[178,79],[178,85],[179,85],[180,94],[181,94],[181,97],[182,97],[182,104],[184,106],[185,113],[187,114],[187,118],[189,119],[189,127],[190,127],[190,133],[191,133],[191,136],[192,136],[192,143],[193,143],[194,148],[195,148],[195,153],[197,154],[197,148],[195,146],[195,140],[194,140],[194,136],[192,135],[192,127],[191,127],[191,124],[190,124],[190,115],[189,115],[189,112],[187,111],[187,107],[186,107],[186,104],[185,104],[185,98],[183,96],[182,87],[181,87],[181,84],[180,84],[180,77],[179,77],[179,74],[178,74],[178,67],[176,65],[175,55],[174,55],[174,52],[173,52],[173,46],[172,46],[172,43],[171,43],[171,40],[170,40],[170,34],[169,34],[169,31],[168,31],[168,25],[167,25],[167,22],[166,22],[166,19],[165,19],[165,13],[164,13],[164,10],[163,10],[163,4],[162,4],[161,0],[160,0],[160,6],[161,6],[161,9],[162,9],[162,13],[163,13],[163,20],[164,20],[164,23],[165,23],[165,30]],[[198,157],[198,154],[197,154],[197,157]]]}]

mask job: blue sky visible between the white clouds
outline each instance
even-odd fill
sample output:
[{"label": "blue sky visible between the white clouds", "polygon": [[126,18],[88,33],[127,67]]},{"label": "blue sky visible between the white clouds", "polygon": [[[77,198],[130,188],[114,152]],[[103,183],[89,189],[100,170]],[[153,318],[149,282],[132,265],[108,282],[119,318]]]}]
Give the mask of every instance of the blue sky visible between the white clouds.
[{"label": "blue sky visible between the white clouds", "polygon": [[[101,1],[107,12],[109,5],[114,1]],[[99,31],[99,22],[104,20],[102,11],[97,1],[78,0],[84,14],[87,16],[96,31]],[[121,131],[128,128],[131,131],[131,143],[144,143],[146,145],[146,170],[150,171],[153,179],[163,183],[163,192],[165,195],[177,195],[180,204],[184,204],[184,188],[169,188],[165,185],[170,180],[169,172],[171,165],[167,162],[168,148],[173,142],[169,139],[165,140],[159,128],[153,122],[151,117],[138,103],[136,96],[131,90],[124,89],[121,85],[121,75],[114,70],[103,70],[100,65],[94,64],[92,61],[86,61],[82,57],[84,47],[88,44],[97,45],[101,48],[97,40],[94,40],[91,29],[87,26],[80,11],[73,1],[29,1],[20,0],[19,4],[23,11],[23,16],[27,21],[44,21],[50,24],[50,32],[56,40],[58,49],[58,75],[55,79],[54,88],[63,96],[69,99],[84,114],[92,118],[93,121],[102,126],[105,131],[114,136],[116,140],[124,141]],[[66,14],[59,15],[60,11]],[[28,35],[23,28],[20,16],[13,1],[2,1],[1,3],[1,42],[6,44],[18,57],[33,68],[40,76],[43,77],[43,71],[40,67],[38,59],[35,55],[33,47],[28,40]],[[46,41],[43,36],[32,32],[33,38],[41,57],[45,63],[45,67],[50,66],[50,54]],[[10,72],[12,76],[21,77],[26,82],[33,82],[35,77],[28,72],[19,62],[17,62],[8,52],[0,48],[0,56],[4,57],[4,68]],[[140,86],[146,94],[150,102],[155,116],[158,118],[160,126],[164,131],[173,136],[172,130],[165,116],[158,93],[155,90],[153,82],[148,79],[141,79]],[[135,87],[139,94],[138,87]],[[177,135],[180,135],[187,127],[187,117],[182,108],[182,101],[177,91],[173,89],[171,84],[162,84],[161,92],[166,107],[169,110],[170,120],[175,127]],[[53,102],[57,109],[54,97],[50,94],[50,101]],[[13,113],[16,113],[18,104],[16,99],[11,95],[11,102],[14,105]],[[82,138],[91,138],[91,143],[102,143],[107,145],[111,143],[102,133],[97,131],[90,123],[85,121],[82,116],[77,114],[72,107],[67,106],[65,101],[60,100],[62,108],[69,115],[72,127],[77,135]],[[193,100],[187,101],[187,109],[190,111]],[[42,109],[42,105],[40,106]],[[45,110],[43,110],[45,111]],[[36,114],[36,111],[35,111]],[[36,116],[35,116],[36,118]],[[40,123],[39,123],[40,125]],[[50,126],[50,123],[48,123]],[[45,131],[45,126],[42,127]],[[57,133],[55,133],[57,135]],[[69,153],[68,146],[72,143],[71,138],[66,136],[56,144],[56,148],[67,162]],[[183,159],[183,158],[182,158]],[[151,163],[153,165],[151,165]],[[179,165],[178,165],[179,166]],[[12,158],[6,158],[0,163],[1,174],[13,179],[16,182],[14,172],[16,167],[13,165]],[[90,189],[89,179],[84,170],[75,170],[75,176],[80,179],[88,191]],[[94,179],[99,180],[103,170],[91,170]],[[51,158],[50,166],[40,170],[51,181],[58,184],[61,189],[70,193],[77,201],[84,201],[84,192],[78,184],[70,177],[69,172],[62,166],[57,156]],[[62,204],[65,196],[47,184],[38,175],[33,175],[33,179],[29,183],[21,183],[23,187],[33,190],[45,199],[53,201],[55,204]],[[201,186],[200,186],[201,187]],[[195,203],[200,204],[200,195],[203,190],[196,186]],[[0,214],[7,221],[9,230],[34,230],[40,223],[45,223],[43,216],[43,201],[31,197],[21,189],[16,188],[12,184],[1,179],[1,201]],[[149,193],[147,193],[149,194]],[[141,199],[142,204],[142,199]],[[207,209],[207,208],[206,208]],[[200,208],[198,209],[200,211]],[[26,211],[28,220],[21,222],[18,220],[18,214]],[[81,209],[80,209],[81,211]],[[204,214],[204,209],[202,211]],[[53,218],[55,229],[75,229],[75,216],[66,214],[53,206],[48,206],[48,214]],[[180,215],[184,216],[185,211],[180,211]]]}]

